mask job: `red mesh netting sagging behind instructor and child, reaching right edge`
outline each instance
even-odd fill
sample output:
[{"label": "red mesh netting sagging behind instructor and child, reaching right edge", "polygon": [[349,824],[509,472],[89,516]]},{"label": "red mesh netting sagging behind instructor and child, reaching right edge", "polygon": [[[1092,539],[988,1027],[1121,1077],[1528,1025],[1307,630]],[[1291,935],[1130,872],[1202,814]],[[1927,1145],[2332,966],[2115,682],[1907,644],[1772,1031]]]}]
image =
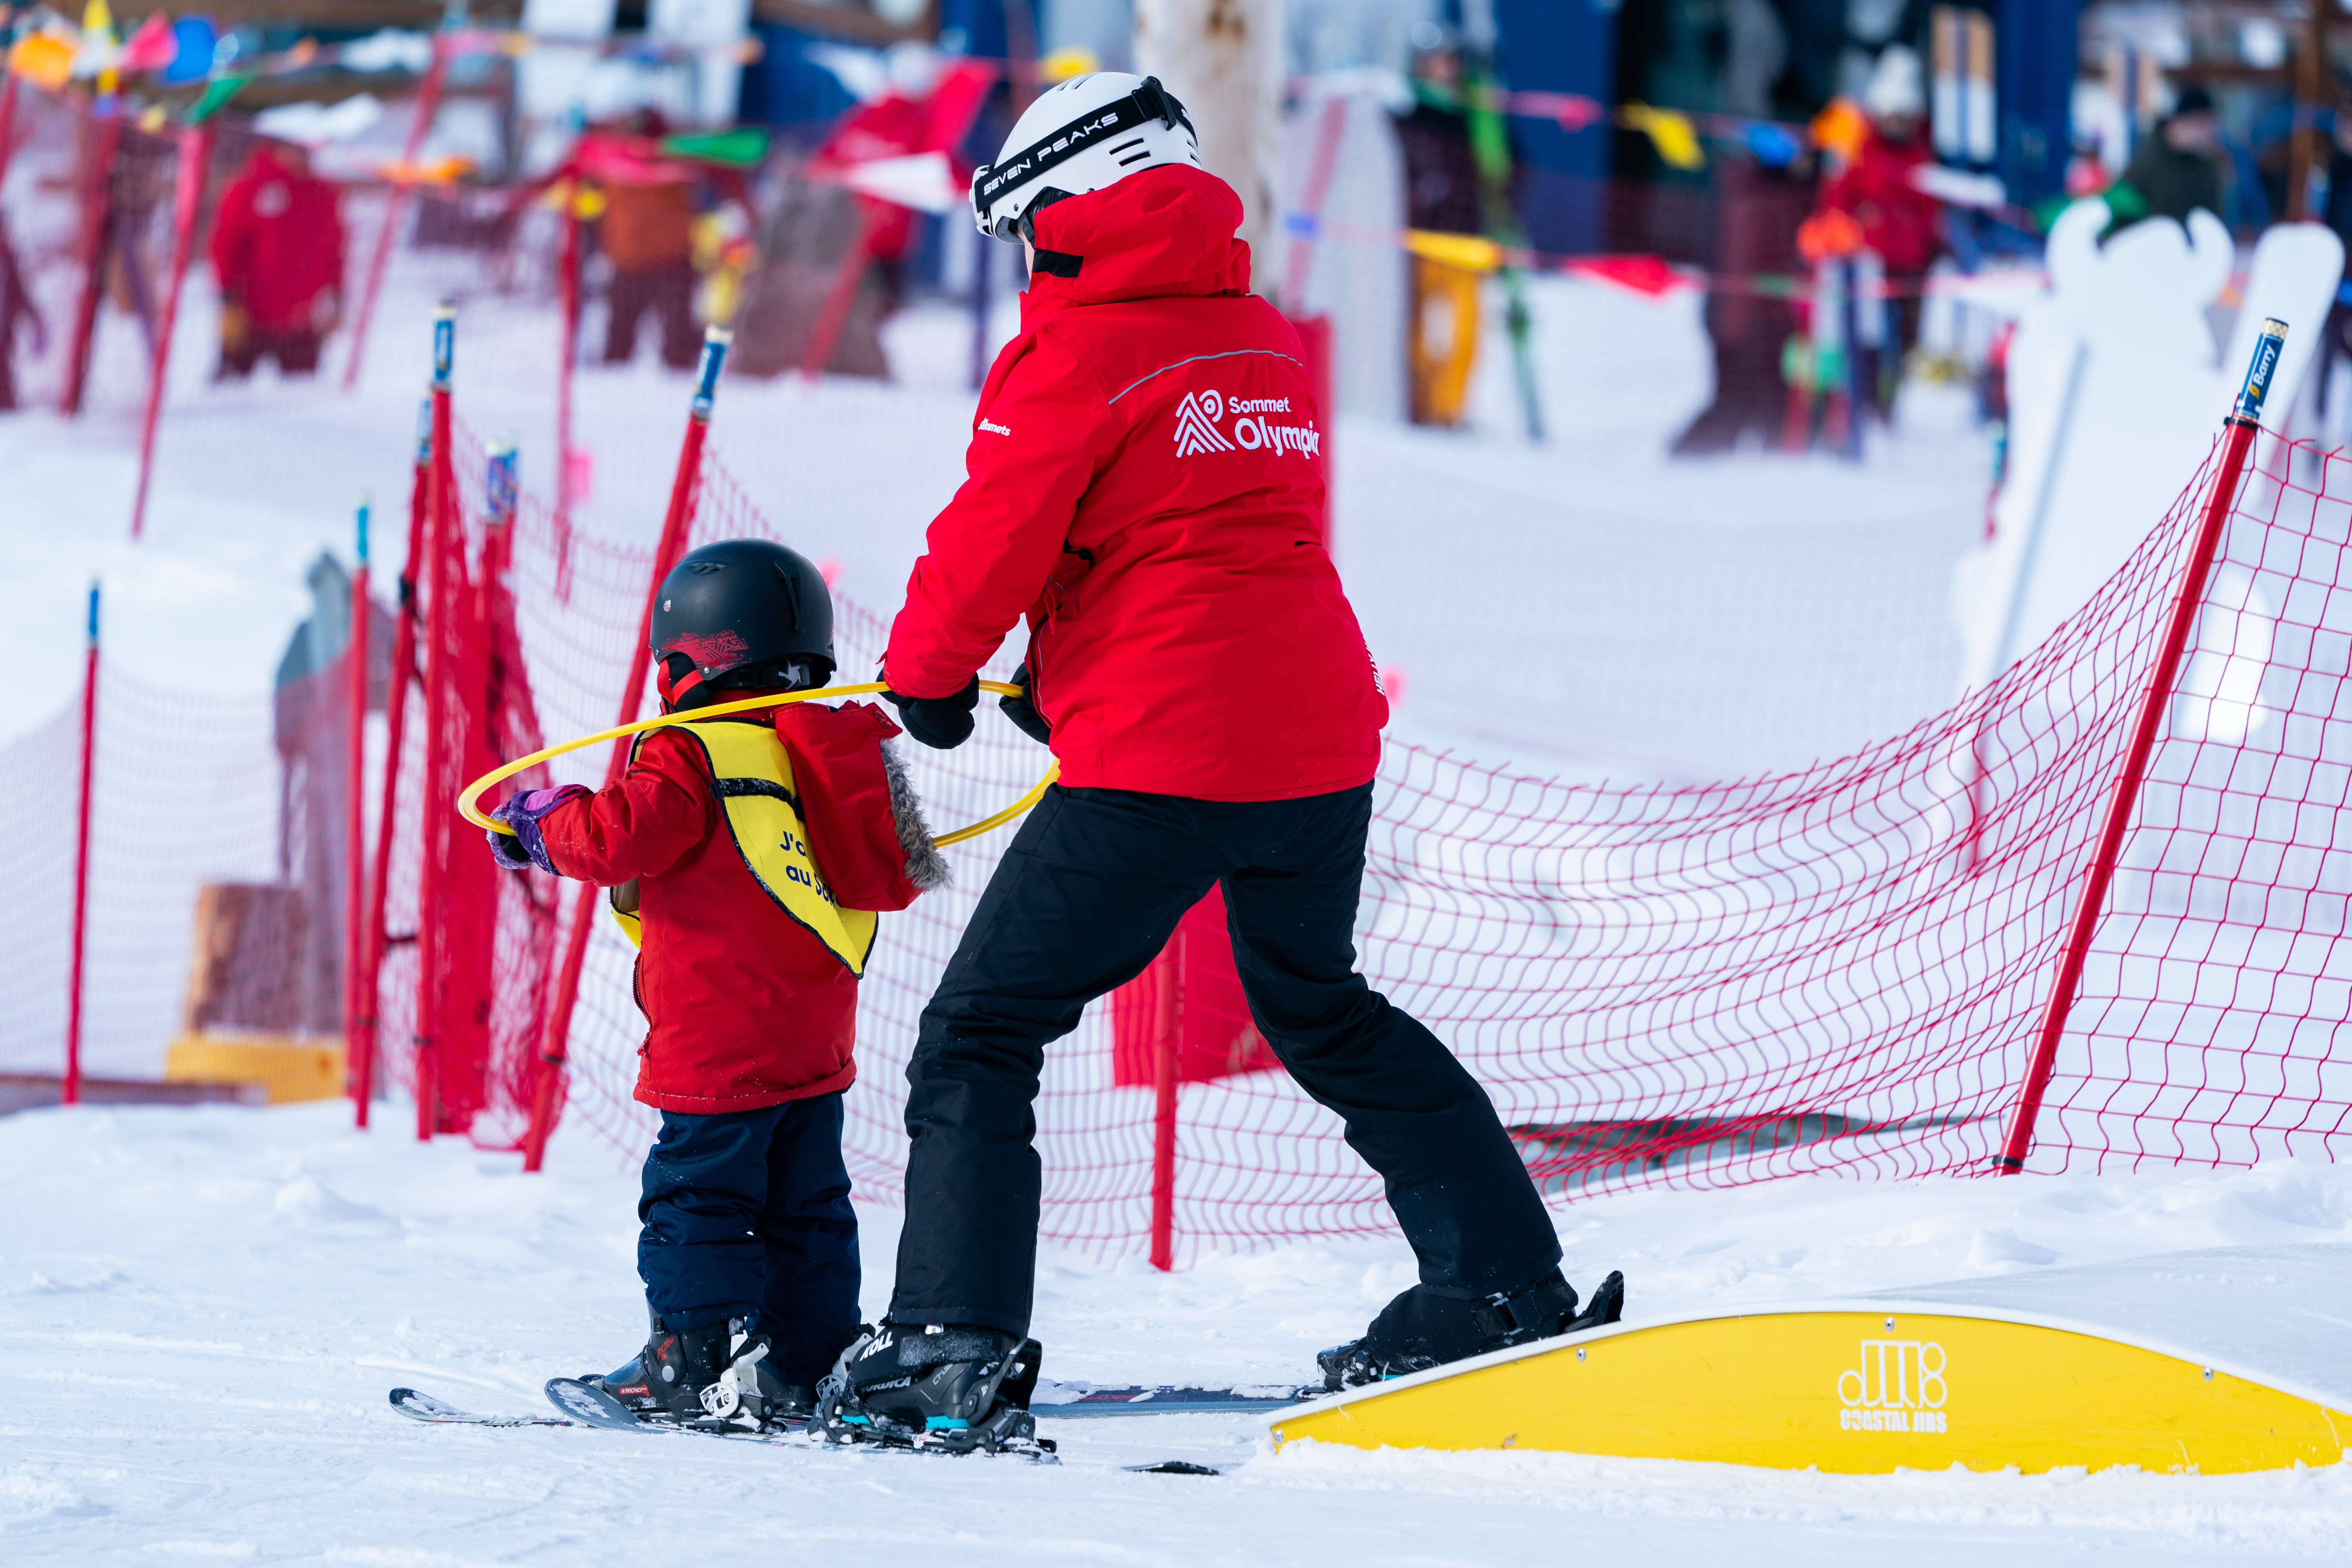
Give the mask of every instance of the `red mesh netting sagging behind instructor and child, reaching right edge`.
[{"label": "red mesh netting sagging behind instructor and child, reaching right edge", "polygon": [[[2336,1060],[2352,1011],[2352,473],[2317,461],[2317,489],[2286,482],[2286,451],[2265,447],[2058,1053],[2039,1171],[2333,1157],[2352,1138],[2352,1063]],[[1367,976],[1454,1044],[1555,1201],[1990,1171],[2206,484],[2002,682],[1851,757],[1708,788],[1595,788],[1392,745],[1359,917]],[[710,463],[696,538],[739,534],[790,543]],[[524,508],[515,588],[550,731],[609,722],[647,569],[579,538],[560,607],[553,531]],[[840,607],[844,679],[873,668],[884,632]],[[595,783],[600,750],[557,776]],[[915,764],[950,825],[1018,795],[1044,752],[983,722],[971,745]],[[866,1192],[898,1180],[915,1020],[1000,851],[1002,835],[960,846],[955,889],[884,922],[849,1117]],[[630,1100],[628,959],[600,917],[569,1114],[635,1157],[652,1114]],[[1047,1232],[1110,1253],[1148,1237],[1152,1091],[1117,1070],[1105,1013],[1054,1048],[1040,1145]],[[1181,1091],[1178,1255],[1385,1229],[1378,1180],[1336,1119],[1279,1072],[1232,1065],[1244,1072]]]}]

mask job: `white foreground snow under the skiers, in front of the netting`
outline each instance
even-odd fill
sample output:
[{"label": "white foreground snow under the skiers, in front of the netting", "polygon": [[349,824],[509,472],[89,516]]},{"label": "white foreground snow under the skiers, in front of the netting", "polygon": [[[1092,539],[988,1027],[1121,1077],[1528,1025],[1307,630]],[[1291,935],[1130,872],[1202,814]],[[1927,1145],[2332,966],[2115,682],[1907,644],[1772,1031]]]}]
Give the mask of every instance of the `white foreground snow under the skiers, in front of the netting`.
[{"label": "white foreground snow under the skiers, in front of the netting", "polygon": [[[1065,1462],[1047,1469],[421,1427],[386,1406],[386,1389],[539,1413],[541,1380],[635,1349],[635,1180],[586,1138],[560,1135],[548,1173],[524,1178],[513,1157],[459,1140],[419,1147],[390,1117],[374,1133],[346,1121],[341,1105],[0,1119],[0,1556],[440,1566],[920,1552],[1190,1566],[1639,1552],[1656,1568],[1719,1568],[2117,1552],[2138,1563],[2343,1561],[2352,1540],[2343,1465],[1823,1476],[1312,1443],[1275,1455],[1251,1418],[1152,1415],[1049,1420]],[[889,1291],[896,1215],[861,1220],[873,1312]],[[2279,1255],[2300,1260],[2326,1298],[2300,1305],[2343,1314],[2352,1168],[1644,1192],[1578,1204],[1562,1241],[1573,1281],[1625,1269],[1632,1319],[1926,1295],[1922,1286],[1952,1279],[2030,1286],[2051,1312],[2096,1312],[2098,1281],[2122,1260],[2216,1246],[2293,1248]],[[1409,1279],[1402,1241],[1294,1244],[1164,1276],[1049,1253],[1035,1333],[1049,1378],[1282,1382]],[[2244,1288],[2249,1272],[2227,1279],[2204,1258],[2173,1267],[2161,1293]],[[2157,1316],[2161,1307],[2147,1302]],[[2241,1324],[2253,1354],[2260,1319],[2253,1309]],[[1225,1474],[1117,1469],[1164,1458]]]}]

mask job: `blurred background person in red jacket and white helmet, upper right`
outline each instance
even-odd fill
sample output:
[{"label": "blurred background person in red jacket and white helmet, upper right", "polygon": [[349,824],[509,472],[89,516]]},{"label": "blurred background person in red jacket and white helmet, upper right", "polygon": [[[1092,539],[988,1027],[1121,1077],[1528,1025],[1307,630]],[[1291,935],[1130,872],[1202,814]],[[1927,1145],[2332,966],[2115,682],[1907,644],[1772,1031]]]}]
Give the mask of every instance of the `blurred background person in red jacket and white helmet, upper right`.
[{"label": "blurred background person in red jacket and white helmet, upper right", "polygon": [[1879,418],[1893,409],[1903,360],[1919,343],[1919,292],[1943,249],[1936,197],[1912,179],[1931,162],[1926,146],[1926,87],[1919,56],[1905,45],[1879,54],[1863,89],[1863,136],[1851,155],[1835,158],[1820,183],[1818,212],[1844,214],[1860,230],[1863,249],[1886,268],[1886,331],[1865,378]]}]

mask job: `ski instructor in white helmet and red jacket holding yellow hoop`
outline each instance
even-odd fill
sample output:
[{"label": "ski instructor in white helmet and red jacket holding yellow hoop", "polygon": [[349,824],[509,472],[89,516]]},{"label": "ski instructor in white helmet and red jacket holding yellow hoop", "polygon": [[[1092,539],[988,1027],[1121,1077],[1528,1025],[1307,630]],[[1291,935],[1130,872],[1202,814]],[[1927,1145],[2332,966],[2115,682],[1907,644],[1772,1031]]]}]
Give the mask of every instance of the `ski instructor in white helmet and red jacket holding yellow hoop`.
[{"label": "ski instructor in white helmet and red jacket holding yellow hoop", "polygon": [[[1388,703],[1324,545],[1324,411],[1249,294],[1242,202],[1157,80],[1044,92],[974,174],[1030,247],[1021,334],[981,390],[969,480],[929,531],[884,677],[960,745],[976,670],[1028,618],[1009,712],[1061,759],[922,1013],[906,1229],[882,1328],[823,1406],[837,1436],[995,1448],[1030,1432],[1049,1041],[1223,884],[1251,1016],[1388,1185],[1421,1284],[1324,1352],[1331,1387],[1562,1333],[1550,1215],[1486,1093],[1355,973]],[[1623,1284],[1597,1293],[1609,1321]]]}]

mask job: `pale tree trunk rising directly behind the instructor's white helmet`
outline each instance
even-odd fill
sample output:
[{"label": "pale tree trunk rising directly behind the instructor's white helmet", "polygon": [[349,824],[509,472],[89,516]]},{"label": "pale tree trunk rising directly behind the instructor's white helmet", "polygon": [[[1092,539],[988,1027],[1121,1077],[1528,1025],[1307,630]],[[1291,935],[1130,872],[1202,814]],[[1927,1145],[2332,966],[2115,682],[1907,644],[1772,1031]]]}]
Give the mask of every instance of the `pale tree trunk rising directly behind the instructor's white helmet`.
[{"label": "pale tree trunk rising directly behind the instructor's white helmet", "polygon": [[1282,0],[1136,0],[1136,73],[1183,99],[1200,160],[1242,195],[1254,287],[1277,282]]}]

